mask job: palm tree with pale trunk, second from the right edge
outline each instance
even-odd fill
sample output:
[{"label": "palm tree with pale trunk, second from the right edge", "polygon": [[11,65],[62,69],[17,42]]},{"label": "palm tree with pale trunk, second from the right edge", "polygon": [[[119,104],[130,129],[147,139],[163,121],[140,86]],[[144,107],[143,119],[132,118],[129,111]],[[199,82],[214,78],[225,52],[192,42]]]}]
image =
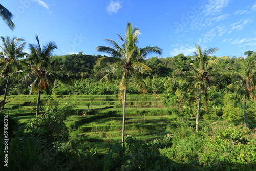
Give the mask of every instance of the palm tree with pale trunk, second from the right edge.
[{"label": "palm tree with pale trunk, second from the right edge", "polygon": [[198,105],[197,105],[197,116],[196,116],[196,132],[198,131],[198,120],[199,120],[199,111],[201,107],[202,95],[204,95],[204,106],[207,110],[208,103],[208,93],[207,89],[210,86],[210,71],[213,65],[216,65],[218,58],[214,56],[209,56],[210,54],[216,52],[217,48],[205,49],[202,51],[199,45],[195,45],[196,52],[194,62],[190,64],[191,70],[189,72],[189,84],[193,86],[193,89],[190,93],[192,98],[196,97],[198,93]]}]

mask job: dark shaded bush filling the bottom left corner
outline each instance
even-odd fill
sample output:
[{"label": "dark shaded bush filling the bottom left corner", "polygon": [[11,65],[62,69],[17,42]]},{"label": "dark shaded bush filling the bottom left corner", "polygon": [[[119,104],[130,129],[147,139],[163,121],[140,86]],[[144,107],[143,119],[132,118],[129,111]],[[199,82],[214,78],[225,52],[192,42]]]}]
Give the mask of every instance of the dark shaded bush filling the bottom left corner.
[{"label": "dark shaded bush filling the bottom left corner", "polygon": [[[22,131],[23,132],[23,131]],[[64,170],[59,163],[62,156],[52,145],[44,143],[40,137],[20,137],[20,132],[8,142],[8,168],[2,163],[1,170]],[[3,142],[2,137],[0,141]],[[0,156],[4,158],[3,143]]]}]

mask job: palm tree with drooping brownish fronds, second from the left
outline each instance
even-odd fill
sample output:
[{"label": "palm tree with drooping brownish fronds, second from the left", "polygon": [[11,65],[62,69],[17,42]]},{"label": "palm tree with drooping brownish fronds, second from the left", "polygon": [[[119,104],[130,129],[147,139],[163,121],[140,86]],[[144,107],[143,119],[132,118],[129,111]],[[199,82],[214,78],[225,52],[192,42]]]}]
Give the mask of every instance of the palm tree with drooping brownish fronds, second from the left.
[{"label": "palm tree with drooping brownish fronds, second from the left", "polygon": [[[29,44],[31,56],[30,56],[30,72],[25,78],[34,77],[34,82],[30,85],[32,92],[37,93],[37,106],[36,117],[39,114],[40,106],[40,93],[42,90],[49,90],[53,83],[56,81],[57,75],[54,73],[55,63],[50,63],[49,58],[52,56],[54,49],[57,49],[55,42],[49,42],[45,46],[41,47],[39,38],[36,35],[37,45]],[[56,71],[56,70],[55,70]]]}]

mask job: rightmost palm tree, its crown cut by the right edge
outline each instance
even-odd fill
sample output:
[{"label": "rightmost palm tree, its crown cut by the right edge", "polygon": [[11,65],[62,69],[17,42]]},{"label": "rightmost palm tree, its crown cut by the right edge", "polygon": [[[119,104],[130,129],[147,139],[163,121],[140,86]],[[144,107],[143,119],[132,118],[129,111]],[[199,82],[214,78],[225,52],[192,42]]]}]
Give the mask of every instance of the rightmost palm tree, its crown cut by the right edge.
[{"label": "rightmost palm tree, its crown cut by the right edge", "polygon": [[246,116],[246,103],[247,100],[255,100],[255,73],[256,73],[256,62],[248,62],[244,59],[240,59],[240,65],[243,67],[242,72],[234,73],[237,81],[233,82],[228,86],[228,88],[235,88],[237,91],[237,97],[244,96],[244,127],[248,126],[247,116]]}]

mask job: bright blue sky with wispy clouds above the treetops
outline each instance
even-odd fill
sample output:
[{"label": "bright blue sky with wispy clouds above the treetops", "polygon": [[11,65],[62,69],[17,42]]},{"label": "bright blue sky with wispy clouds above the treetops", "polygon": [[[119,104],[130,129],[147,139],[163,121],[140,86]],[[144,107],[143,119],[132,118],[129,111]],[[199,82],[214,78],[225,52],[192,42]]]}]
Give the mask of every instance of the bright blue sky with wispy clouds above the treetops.
[{"label": "bright blue sky with wispy clouds above the treetops", "polygon": [[[256,1],[254,0],[2,0],[14,15],[14,31],[2,21],[1,36],[24,38],[27,44],[54,41],[57,55],[97,52],[109,46],[104,39],[121,44],[127,22],[137,26],[138,46],[158,46],[161,57],[193,55],[194,44],[217,47],[221,56],[243,56],[256,51]],[[1,22],[1,21],[0,21]],[[25,51],[29,52],[28,46]],[[148,56],[148,57],[153,57]]]}]

